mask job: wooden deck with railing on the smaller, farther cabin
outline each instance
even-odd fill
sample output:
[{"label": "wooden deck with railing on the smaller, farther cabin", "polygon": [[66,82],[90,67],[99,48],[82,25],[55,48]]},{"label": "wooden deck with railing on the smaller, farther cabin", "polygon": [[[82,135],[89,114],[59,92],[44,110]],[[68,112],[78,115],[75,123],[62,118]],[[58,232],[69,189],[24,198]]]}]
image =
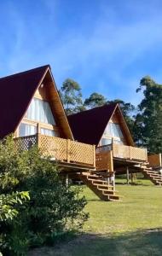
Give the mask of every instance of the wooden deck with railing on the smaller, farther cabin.
[{"label": "wooden deck with railing on the smaller, farther cabin", "polygon": [[[109,144],[96,148],[96,170],[113,172],[119,166],[148,162],[146,148],[136,148],[120,144]],[[117,171],[117,170],[115,170]]]}]

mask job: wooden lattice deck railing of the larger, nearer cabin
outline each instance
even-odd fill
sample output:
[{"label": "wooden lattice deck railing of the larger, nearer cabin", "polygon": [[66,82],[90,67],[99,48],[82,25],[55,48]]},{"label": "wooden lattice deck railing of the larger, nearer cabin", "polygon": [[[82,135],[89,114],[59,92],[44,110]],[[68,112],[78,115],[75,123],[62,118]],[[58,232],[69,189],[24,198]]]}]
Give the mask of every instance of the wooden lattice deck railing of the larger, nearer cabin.
[{"label": "wooden lattice deck railing of the larger, nearer cabin", "polygon": [[42,134],[15,138],[15,144],[20,150],[27,150],[38,144],[43,155],[53,160],[95,167],[94,145]]}]

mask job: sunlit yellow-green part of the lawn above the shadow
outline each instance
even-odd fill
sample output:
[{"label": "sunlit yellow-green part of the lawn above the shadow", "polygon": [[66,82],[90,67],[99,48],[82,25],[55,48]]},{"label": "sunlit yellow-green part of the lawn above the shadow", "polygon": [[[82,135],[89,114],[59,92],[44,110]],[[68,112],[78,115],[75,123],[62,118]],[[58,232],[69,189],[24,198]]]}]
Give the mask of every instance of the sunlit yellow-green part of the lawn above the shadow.
[{"label": "sunlit yellow-green part of the lawn above the shadow", "polygon": [[117,184],[121,201],[100,201],[87,187],[86,211],[90,219],[84,225],[85,232],[97,234],[121,234],[136,230],[162,227],[162,188],[149,181],[143,185]]}]

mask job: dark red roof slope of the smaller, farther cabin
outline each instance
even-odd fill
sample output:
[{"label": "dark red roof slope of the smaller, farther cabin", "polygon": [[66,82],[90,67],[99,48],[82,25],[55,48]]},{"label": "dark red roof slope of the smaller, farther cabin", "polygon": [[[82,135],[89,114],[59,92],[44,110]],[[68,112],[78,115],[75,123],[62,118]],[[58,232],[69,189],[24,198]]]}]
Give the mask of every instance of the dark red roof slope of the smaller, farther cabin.
[{"label": "dark red roof slope of the smaller, farther cabin", "polygon": [[69,115],[67,119],[74,139],[81,143],[98,145],[117,105],[112,103]]}]

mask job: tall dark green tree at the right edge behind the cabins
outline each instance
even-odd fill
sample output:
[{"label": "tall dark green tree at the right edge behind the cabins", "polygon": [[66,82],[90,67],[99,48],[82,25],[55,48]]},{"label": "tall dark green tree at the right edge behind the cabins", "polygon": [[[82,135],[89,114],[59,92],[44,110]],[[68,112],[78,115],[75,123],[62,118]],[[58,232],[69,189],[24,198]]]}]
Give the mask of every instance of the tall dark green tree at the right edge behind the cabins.
[{"label": "tall dark green tree at the right edge behind the cabins", "polygon": [[144,98],[136,115],[136,140],[151,153],[162,152],[162,84],[149,76],[141,79],[137,92],[142,90]]}]

